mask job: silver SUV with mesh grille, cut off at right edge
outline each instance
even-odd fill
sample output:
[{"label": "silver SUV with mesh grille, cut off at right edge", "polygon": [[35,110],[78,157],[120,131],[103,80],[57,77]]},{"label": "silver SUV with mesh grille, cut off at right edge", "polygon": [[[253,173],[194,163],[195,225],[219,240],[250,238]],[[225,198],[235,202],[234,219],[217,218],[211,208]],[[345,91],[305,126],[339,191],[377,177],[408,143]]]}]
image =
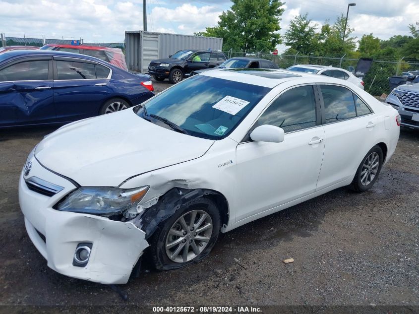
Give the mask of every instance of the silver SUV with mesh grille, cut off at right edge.
[{"label": "silver SUV with mesh grille, cut off at right edge", "polygon": [[386,103],[399,111],[402,126],[419,129],[419,79],[414,85],[400,85],[387,96]]}]

